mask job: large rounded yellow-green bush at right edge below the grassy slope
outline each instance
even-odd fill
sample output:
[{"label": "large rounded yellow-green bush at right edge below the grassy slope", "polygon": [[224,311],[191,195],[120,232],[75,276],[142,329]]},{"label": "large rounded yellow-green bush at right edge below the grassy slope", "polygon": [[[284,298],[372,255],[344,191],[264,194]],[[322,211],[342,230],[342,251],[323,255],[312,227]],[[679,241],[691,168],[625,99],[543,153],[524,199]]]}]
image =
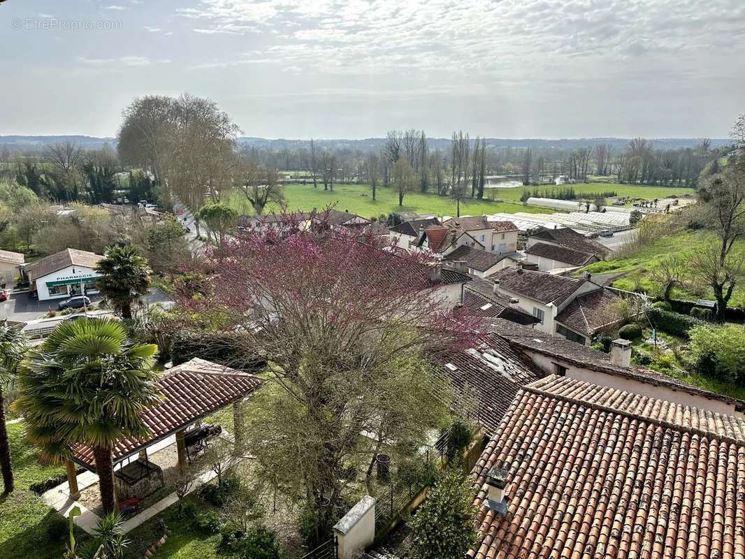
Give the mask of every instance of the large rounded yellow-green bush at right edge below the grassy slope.
[{"label": "large rounded yellow-green bush at right edge below the grassy slope", "polygon": [[742,326],[696,326],[691,330],[691,367],[709,378],[745,383],[745,329]]}]

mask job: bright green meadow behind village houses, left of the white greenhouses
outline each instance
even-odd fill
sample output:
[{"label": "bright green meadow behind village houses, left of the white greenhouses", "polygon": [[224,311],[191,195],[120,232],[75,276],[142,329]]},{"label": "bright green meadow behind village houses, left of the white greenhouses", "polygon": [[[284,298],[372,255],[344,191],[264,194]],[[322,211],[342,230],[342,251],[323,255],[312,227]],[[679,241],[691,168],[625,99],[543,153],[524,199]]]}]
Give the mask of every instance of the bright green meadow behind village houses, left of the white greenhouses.
[{"label": "bright green meadow behind village houses, left of the white greenhouses", "polygon": [[[364,218],[378,218],[380,215],[387,215],[390,212],[397,211],[434,213],[440,216],[455,215],[454,200],[436,194],[408,192],[404,198],[403,206],[399,206],[398,193],[393,189],[378,188],[375,198],[373,200],[370,186],[359,184],[335,185],[333,192],[323,190],[323,186],[314,189],[312,184],[293,184],[285,187],[285,199],[287,200],[288,209],[293,212],[335,206],[336,209],[347,210]],[[253,213],[245,195],[240,191],[230,192],[226,197],[226,202],[241,214],[250,215]],[[268,211],[265,210],[265,213],[276,211],[276,209],[275,206]],[[490,200],[475,200],[460,204],[461,215],[482,215],[500,212],[552,213],[553,210],[524,206],[519,202],[496,202]]]}]

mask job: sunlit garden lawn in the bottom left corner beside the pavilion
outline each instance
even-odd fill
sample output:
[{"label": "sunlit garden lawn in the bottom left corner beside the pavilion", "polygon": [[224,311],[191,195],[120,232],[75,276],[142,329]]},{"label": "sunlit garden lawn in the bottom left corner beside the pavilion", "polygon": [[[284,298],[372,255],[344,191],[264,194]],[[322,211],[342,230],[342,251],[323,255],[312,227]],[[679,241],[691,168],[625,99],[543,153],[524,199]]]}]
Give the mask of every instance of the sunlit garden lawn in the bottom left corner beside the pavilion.
[{"label": "sunlit garden lawn in the bottom left corner beside the pavilion", "polygon": [[[23,426],[7,426],[16,490],[0,497],[0,558],[49,559],[62,557],[66,531],[64,519],[31,493],[28,487],[62,473],[62,467],[39,464],[22,439]],[[60,537],[61,529],[61,537]]]}]

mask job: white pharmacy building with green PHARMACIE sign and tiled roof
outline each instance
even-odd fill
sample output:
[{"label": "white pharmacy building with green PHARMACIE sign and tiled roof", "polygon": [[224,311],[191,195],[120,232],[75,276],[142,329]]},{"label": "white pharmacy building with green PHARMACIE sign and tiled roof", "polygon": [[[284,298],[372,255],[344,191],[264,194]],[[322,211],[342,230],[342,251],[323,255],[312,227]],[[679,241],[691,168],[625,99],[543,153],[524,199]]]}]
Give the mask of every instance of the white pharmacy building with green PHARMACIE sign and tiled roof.
[{"label": "white pharmacy building with green PHARMACIE sign and tiled roof", "polygon": [[98,293],[94,268],[102,258],[75,248],[46,256],[26,267],[31,291],[40,301]]}]

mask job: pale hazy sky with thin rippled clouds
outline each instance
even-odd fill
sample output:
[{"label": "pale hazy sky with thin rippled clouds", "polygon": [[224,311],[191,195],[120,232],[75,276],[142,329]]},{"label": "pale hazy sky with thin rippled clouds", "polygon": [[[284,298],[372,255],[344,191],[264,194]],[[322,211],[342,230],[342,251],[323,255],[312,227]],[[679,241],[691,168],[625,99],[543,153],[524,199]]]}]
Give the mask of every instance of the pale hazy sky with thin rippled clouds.
[{"label": "pale hazy sky with thin rippled clouds", "polygon": [[721,138],[745,1],[6,0],[0,76],[0,135],[189,92],[264,138]]}]

